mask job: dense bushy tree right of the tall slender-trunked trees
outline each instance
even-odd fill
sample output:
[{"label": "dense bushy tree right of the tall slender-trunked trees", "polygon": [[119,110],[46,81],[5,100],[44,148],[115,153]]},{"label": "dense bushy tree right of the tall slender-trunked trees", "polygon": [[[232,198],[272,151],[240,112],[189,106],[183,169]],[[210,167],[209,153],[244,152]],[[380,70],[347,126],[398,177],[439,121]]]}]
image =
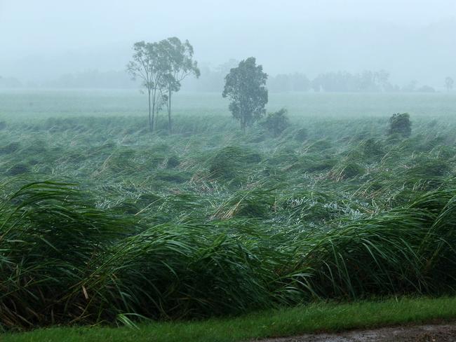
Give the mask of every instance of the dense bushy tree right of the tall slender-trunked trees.
[{"label": "dense bushy tree right of the tall slender-trunked trees", "polygon": [[241,129],[260,119],[267,104],[267,74],[256,64],[255,57],[247,58],[229,71],[225,77],[223,97],[228,97],[229,110],[241,123]]}]

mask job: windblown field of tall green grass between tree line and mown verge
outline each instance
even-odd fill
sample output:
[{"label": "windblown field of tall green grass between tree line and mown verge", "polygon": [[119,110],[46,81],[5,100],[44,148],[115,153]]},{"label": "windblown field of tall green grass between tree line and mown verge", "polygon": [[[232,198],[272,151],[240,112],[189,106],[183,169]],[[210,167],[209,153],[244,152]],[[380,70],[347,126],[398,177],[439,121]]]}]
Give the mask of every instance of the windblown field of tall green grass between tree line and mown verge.
[{"label": "windblown field of tall green grass between tree line and mown verge", "polygon": [[455,95],[269,104],[276,138],[218,94],[152,135],[137,91],[0,93],[0,328],[454,295]]}]

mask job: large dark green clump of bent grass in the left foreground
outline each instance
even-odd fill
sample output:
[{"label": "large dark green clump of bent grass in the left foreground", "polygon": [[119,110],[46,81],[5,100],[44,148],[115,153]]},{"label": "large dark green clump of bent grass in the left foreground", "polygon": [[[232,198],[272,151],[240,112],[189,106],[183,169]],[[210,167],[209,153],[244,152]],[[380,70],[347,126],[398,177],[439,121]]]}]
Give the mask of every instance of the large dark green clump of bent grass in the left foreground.
[{"label": "large dark green clump of bent grass in the left foreground", "polygon": [[126,220],[96,210],[69,184],[51,182],[22,186],[0,212],[1,325],[77,319],[85,289],[75,286],[91,260],[128,233]]}]

